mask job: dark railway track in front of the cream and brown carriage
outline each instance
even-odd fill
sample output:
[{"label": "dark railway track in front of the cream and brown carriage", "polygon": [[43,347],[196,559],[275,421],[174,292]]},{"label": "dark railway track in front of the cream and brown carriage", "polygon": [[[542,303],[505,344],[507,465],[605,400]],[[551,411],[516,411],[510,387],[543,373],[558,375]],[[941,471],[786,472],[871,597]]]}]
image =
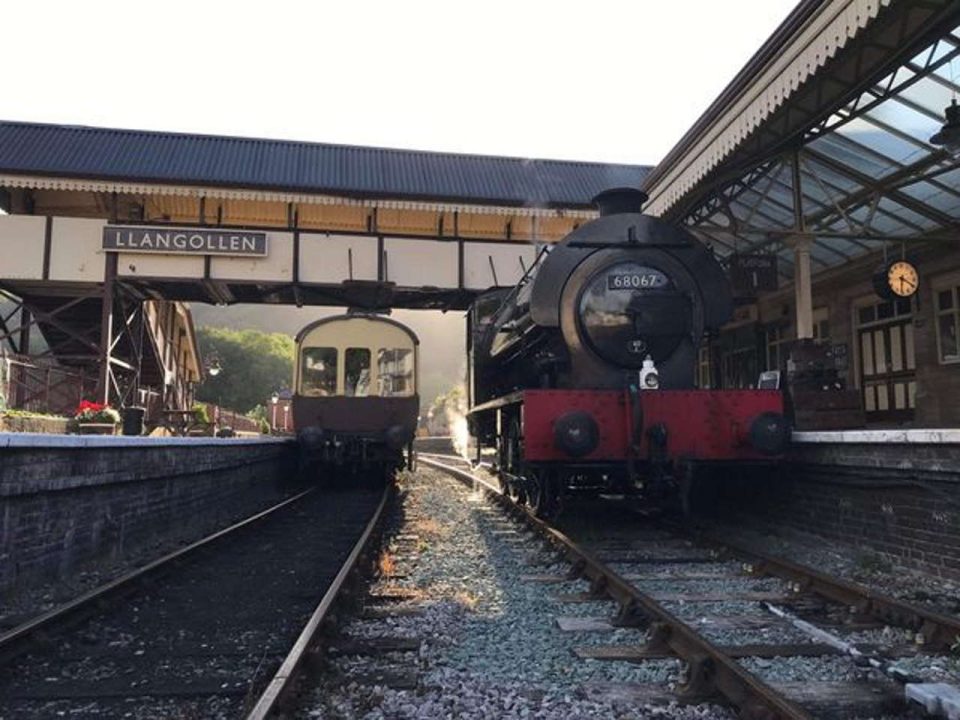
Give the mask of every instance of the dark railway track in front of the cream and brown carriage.
[{"label": "dark railway track in front of the cream and brown carriage", "polygon": [[389,492],[301,493],[4,633],[0,718],[269,716]]}]

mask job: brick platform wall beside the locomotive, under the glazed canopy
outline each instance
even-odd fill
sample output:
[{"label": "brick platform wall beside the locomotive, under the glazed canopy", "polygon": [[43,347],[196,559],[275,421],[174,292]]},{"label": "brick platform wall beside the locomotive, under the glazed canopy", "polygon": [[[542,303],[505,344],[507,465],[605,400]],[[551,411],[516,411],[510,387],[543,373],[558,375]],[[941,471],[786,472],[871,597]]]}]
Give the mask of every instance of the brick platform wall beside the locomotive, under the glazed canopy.
[{"label": "brick platform wall beside the locomotive, under the glazed canopy", "polygon": [[799,445],[778,472],[731,478],[719,494],[726,519],[960,580],[960,444]]}]

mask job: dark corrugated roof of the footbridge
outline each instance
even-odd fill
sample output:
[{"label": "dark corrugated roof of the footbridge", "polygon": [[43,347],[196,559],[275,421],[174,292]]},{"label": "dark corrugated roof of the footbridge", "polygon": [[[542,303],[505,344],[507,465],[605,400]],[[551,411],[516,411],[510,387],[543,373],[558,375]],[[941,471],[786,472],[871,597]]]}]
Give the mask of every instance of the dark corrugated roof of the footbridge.
[{"label": "dark corrugated roof of the footbridge", "polygon": [[590,207],[639,187],[640,165],[0,121],[0,172],[212,185],[355,198]]}]

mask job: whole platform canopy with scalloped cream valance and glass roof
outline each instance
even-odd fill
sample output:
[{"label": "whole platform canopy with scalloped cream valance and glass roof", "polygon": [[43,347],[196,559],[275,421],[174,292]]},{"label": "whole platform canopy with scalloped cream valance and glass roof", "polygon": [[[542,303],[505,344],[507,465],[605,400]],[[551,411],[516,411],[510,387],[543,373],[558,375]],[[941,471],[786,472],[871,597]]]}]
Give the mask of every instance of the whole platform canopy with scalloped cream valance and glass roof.
[{"label": "whole platform canopy with scalloped cream valance and glass roof", "polygon": [[952,0],[802,2],[647,177],[650,211],[722,256],[776,254],[788,279],[797,236],[814,273],[956,242],[960,143],[931,138],[958,55]]}]

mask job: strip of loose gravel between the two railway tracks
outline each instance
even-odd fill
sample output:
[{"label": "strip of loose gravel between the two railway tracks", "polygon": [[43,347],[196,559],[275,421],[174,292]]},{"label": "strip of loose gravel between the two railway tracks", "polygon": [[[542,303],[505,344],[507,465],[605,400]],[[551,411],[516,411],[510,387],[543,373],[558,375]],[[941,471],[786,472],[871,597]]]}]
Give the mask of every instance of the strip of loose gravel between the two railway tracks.
[{"label": "strip of loose gravel between the two railway tracks", "polygon": [[[543,565],[529,533],[488,511],[482,497],[436,471],[404,478],[399,532],[416,535],[417,554],[395,558],[394,574],[371,588],[416,589],[422,615],[356,620],[349,636],[402,635],[422,641],[419,653],[376,658],[334,657],[331,672],[314,693],[305,717],[314,718],[730,718],[716,706],[619,705],[588,699],[589,682],[674,682],[676,660],[644,663],[585,660],[578,645],[639,645],[646,633],[631,628],[608,632],[562,632],[558,617],[609,619],[610,602],[560,603],[561,593],[583,592],[583,582],[538,583],[529,575],[562,575],[565,565]],[[464,502],[464,500],[469,500]],[[391,547],[409,548],[394,541]],[[539,564],[538,564],[539,563]],[[381,561],[381,568],[384,563]],[[374,667],[415,668],[416,690],[355,682]]]}]

